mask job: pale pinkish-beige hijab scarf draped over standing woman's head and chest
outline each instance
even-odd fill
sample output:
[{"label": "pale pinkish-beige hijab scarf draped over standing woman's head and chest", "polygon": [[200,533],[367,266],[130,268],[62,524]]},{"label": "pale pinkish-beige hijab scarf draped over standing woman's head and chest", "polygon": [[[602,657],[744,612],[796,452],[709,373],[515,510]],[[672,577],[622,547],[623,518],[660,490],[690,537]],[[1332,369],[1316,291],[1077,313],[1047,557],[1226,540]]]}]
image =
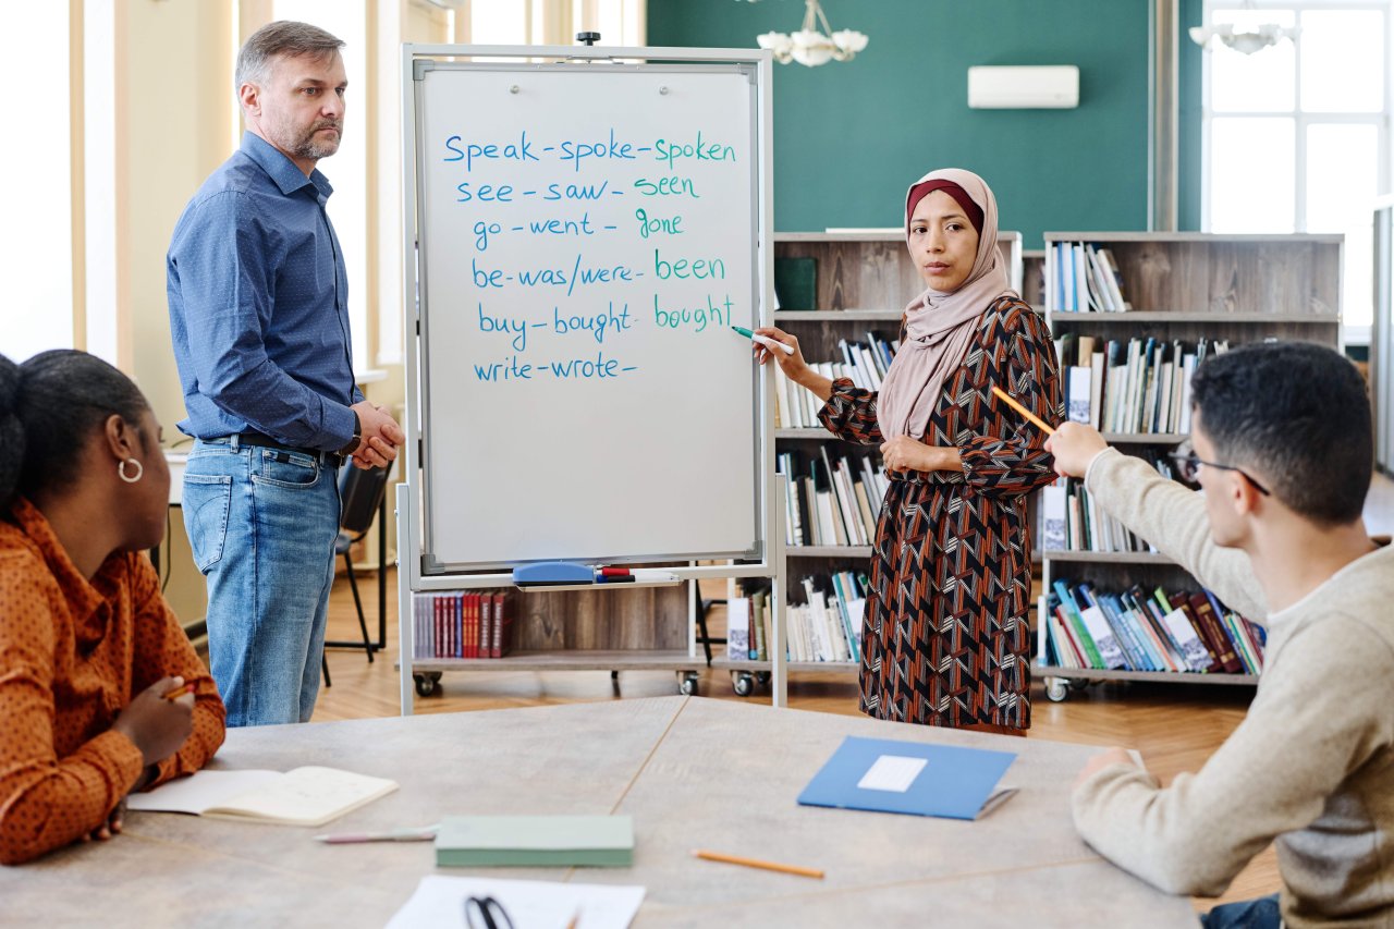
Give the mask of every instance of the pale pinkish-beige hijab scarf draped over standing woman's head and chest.
[{"label": "pale pinkish-beige hijab scarf draped over standing woman's head and chest", "polygon": [[1016,297],[997,251],[997,198],[973,172],[930,172],[905,194],[905,241],[910,243],[910,192],[930,180],[958,184],[983,209],[983,232],[967,280],[952,293],[927,289],[905,308],[905,340],[877,398],[881,435],[923,438],[948,381],[967,356],[983,311],[998,297]]}]

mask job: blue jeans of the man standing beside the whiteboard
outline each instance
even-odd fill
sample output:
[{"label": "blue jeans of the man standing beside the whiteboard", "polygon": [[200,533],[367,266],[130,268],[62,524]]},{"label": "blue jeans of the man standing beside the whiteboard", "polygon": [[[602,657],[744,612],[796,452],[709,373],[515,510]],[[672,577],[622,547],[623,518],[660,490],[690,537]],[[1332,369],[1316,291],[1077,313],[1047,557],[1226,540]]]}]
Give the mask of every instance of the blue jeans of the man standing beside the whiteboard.
[{"label": "blue jeans of the man standing beside the whiteboard", "polygon": [[335,469],[236,438],[198,439],[184,527],[208,579],[208,657],[227,725],[309,721],[335,579]]}]

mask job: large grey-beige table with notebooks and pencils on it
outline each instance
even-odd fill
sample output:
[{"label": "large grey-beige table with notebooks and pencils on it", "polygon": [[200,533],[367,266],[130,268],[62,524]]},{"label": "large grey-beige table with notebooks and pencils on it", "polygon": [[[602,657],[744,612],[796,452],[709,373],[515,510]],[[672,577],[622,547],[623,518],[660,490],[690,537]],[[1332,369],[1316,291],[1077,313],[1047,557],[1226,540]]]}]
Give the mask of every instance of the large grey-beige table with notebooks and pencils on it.
[{"label": "large grey-beige table with notebooks and pencils on it", "polygon": [[[1016,752],[1002,783],[1019,792],[976,822],[799,806],[848,735]],[[131,812],[109,843],[0,868],[0,922],[382,926],[435,873],[643,884],[636,926],[1195,926],[1188,898],[1075,833],[1071,784],[1096,750],[683,696],[231,730],[210,767],[321,764],[400,790],[322,829]],[[629,813],[634,863],[438,869],[431,843],[312,840],[452,813]]]}]

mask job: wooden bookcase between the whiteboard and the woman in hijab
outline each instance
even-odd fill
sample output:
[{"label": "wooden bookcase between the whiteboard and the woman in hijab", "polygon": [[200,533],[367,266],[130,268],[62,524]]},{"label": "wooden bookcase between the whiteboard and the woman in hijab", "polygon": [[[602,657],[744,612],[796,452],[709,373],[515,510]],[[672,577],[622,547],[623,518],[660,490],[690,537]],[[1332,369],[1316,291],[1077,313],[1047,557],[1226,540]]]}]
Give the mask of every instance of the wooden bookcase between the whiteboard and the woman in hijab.
[{"label": "wooden bookcase between the whiteboard and the woman in hijab", "polygon": [[[836,361],[842,358],[841,339],[864,340],[874,332],[885,342],[899,338],[905,304],[924,290],[899,229],[855,230],[825,233],[775,233],[775,261],[782,258],[813,258],[815,262],[814,305],[806,310],[776,310],[774,324],[799,338],[804,358]],[[1012,286],[1020,290],[1022,236],[1001,232],[998,250],[1006,262]],[[776,269],[776,279],[779,272]],[[776,375],[783,386],[782,375]],[[781,395],[782,402],[783,395]],[[870,446],[843,442],[821,427],[789,428],[781,421],[775,428],[776,452],[799,452],[806,460],[820,458],[824,448],[829,456],[870,455],[877,467],[880,456]],[[820,458],[821,460],[821,458]],[[880,506],[880,495],[870,501],[873,511]],[[874,524],[867,526],[867,537],[874,536]],[[831,598],[828,577],[839,571],[868,569],[871,545],[788,545],[788,590],[803,597],[803,580],[815,577]],[[789,625],[786,612],[785,625]],[[771,647],[785,647],[785,643]],[[767,679],[769,661],[712,657],[711,665],[730,672],[736,693],[746,696],[757,682]],[[788,671],[797,674],[839,674],[855,677],[857,656],[850,661],[790,661]]]}]

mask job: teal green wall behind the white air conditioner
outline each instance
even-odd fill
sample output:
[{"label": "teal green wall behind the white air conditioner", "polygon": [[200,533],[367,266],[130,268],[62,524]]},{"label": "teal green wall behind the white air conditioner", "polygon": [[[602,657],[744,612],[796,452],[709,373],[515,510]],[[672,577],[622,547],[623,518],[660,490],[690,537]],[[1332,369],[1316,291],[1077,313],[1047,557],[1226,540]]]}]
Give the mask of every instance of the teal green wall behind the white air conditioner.
[{"label": "teal green wall behind the white air conditioner", "polygon": [[[898,226],[906,188],[947,166],[987,180],[1026,248],[1046,230],[1146,229],[1149,0],[822,8],[870,43],[852,61],[775,64],[776,230]],[[648,45],[751,47],[802,18],[802,0],[648,0]],[[1079,107],[970,110],[973,64],[1076,64]]]}]

